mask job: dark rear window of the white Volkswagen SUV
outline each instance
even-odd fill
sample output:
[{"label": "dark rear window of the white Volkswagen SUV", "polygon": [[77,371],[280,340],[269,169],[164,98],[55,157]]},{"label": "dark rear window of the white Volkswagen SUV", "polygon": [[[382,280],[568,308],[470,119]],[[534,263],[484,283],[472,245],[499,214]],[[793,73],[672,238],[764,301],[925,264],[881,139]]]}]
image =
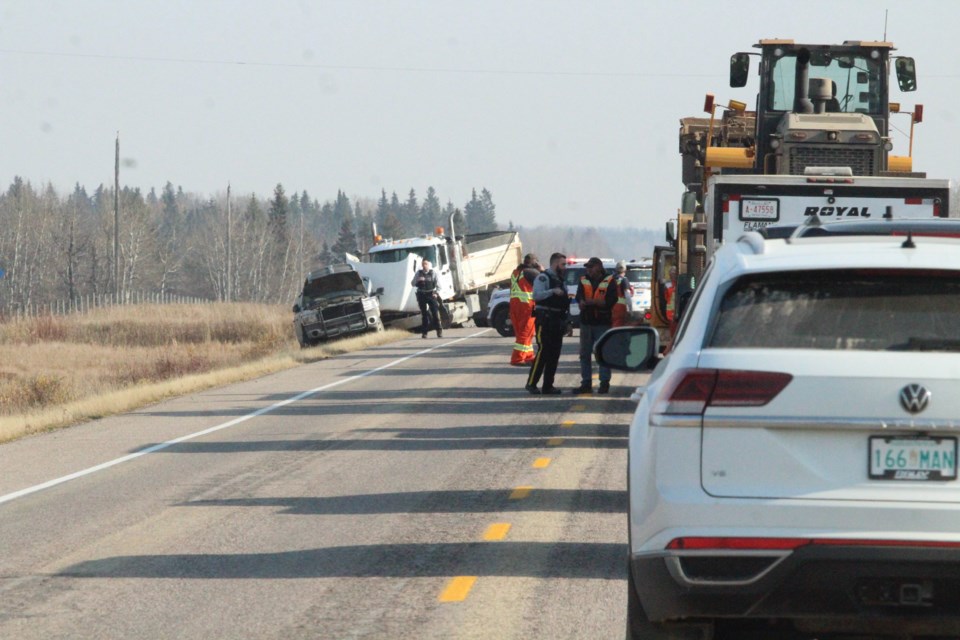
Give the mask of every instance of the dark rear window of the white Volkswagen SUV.
[{"label": "dark rear window of the white Volkswagen SUV", "polygon": [[791,271],[739,278],[708,346],[960,352],[960,273]]}]

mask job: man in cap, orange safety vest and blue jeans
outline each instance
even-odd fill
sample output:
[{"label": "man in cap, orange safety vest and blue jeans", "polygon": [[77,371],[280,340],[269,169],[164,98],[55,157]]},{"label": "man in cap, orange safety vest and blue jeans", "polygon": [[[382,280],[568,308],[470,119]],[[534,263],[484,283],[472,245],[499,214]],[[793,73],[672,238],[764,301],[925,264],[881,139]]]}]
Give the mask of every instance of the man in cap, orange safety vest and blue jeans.
[{"label": "man in cap, orange safety vest and blue jeans", "polygon": [[[573,393],[593,392],[593,345],[609,328],[613,306],[617,303],[617,287],[607,275],[600,258],[590,258],[584,265],[575,299],[580,305],[580,386]],[[600,388],[610,392],[610,368],[600,365]]]}]

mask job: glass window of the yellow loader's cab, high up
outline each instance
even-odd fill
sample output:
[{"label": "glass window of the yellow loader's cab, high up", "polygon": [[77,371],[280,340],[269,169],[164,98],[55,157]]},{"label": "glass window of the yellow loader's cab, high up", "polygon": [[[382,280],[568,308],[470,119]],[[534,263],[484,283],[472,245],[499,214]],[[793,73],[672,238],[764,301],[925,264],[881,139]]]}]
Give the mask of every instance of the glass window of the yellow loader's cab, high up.
[{"label": "glass window of the yellow loader's cab, high up", "polygon": [[[773,60],[767,107],[774,111],[792,111],[796,53]],[[809,77],[826,78],[832,82],[834,99],[827,103],[828,112],[883,113],[882,68],[879,60],[859,54],[833,54],[813,51],[810,57]]]}]

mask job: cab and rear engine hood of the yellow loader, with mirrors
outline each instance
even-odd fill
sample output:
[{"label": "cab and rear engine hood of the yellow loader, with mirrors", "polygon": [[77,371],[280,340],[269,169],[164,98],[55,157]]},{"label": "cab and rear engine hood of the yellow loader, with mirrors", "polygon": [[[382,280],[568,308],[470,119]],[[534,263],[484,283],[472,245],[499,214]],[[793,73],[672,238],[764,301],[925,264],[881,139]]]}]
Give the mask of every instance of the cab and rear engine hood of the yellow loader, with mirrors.
[{"label": "cab and rear engine hood of the yellow loader, with mirrors", "polygon": [[[889,42],[804,45],[761,40],[755,173],[802,175],[807,167],[888,170]],[[745,86],[750,56],[730,59],[730,84]],[[916,89],[912,58],[894,58],[901,91]]]}]

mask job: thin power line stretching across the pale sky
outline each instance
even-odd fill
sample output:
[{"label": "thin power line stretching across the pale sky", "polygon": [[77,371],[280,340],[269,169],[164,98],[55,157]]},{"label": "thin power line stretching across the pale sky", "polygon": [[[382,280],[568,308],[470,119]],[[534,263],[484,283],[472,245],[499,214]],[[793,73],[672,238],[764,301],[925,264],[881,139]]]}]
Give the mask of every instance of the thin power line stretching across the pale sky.
[{"label": "thin power line stretching across the pale sky", "polygon": [[333,65],[310,62],[263,62],[257,60],[215,60],[209,58],[166,58],[155,56],[127,56],[99,53],[65,53],[59,51],[28,51],[23,49],[0,49],[0,54],[22,56],[48,56],[57,58],[81,58],[91,60],[120,60],[131,62],[161,62],[167,64],[204,64],[240,67],[268,67],[281,69],[322,69],[326,71],[380,71],[401,73],[463,73],[509,76],[572,76],[599,78],[713,78],[708,73],[647,73],[639,71],[566,71],[535,69],[465,69],[457,67],[387,67],[375,65]]}]

